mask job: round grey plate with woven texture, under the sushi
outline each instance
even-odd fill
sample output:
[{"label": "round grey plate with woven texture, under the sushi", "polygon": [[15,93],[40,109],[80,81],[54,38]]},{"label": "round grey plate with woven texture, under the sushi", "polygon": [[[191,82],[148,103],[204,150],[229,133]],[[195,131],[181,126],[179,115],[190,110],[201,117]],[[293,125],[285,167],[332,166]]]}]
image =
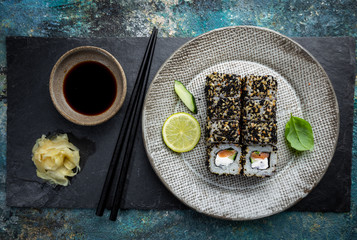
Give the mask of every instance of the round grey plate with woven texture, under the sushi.
[{"label": "round grey plate with woven texture, under the sushi", "polygon": [[[205,77],[212,72],[273,75],[278,81],[278,164],[268,178],[216,176],[206,164]],[[177,154],[161,136],[165,119],[189,112],[174,92],[181,81],[195,96],[202,129],[190,152]],[[284,138],[290,114],[312,125],[315,148],[291,150]],[[160,68],[143,110],[143,136],[151,165],[183,203],[210,216],[257,219],[281,212],[304,198],[326,172],[339,129],[336,96],[321,65],[299,44],[258,27],[227,27],[207,32],[179,48]]]}]

